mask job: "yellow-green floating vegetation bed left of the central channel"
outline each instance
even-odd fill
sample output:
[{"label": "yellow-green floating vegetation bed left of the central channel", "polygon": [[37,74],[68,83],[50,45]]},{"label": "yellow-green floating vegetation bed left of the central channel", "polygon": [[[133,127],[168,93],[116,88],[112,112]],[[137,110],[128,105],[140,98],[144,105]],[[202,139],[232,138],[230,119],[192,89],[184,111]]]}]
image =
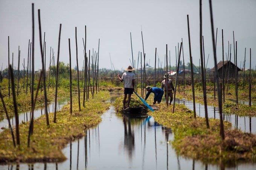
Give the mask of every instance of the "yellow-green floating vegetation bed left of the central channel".
[{"label": "yellow-green floating vegetation bed left of the central channel", "polygon": [[[38,162],[63,161],[61,149],[67,143],[85,135],[84,129],[101,122],[101,114],[107,110],[109,92],[101,91],[94,99],[85,102],[79,112],[78,97],[73,96],[73,113],[70,115],[70,103],[57,112],[57,123],[53,123],[53,113],[49,114],[50,127],[46,126],[45,115],[34,121],[34,134],[27,147],[29,122],[20,125],[20,147],[14,147],[9,129],[0,133],[0,162]],[[14,128],[15,131],[15,128]],[[14,132],[15,133],[15,132]]]}]

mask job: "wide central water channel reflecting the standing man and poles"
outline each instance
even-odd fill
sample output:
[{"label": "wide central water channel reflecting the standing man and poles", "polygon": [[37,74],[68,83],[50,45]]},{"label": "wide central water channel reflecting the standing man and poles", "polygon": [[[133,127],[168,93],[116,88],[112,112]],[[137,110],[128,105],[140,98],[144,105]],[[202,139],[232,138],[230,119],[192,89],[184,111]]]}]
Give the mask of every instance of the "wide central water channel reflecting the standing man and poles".
[{"label": "wide central water channel reflecting the standing man and poles", "polygon": [[[62,152],[66,161],[0,165],[0,169],[220,169],[219,165],[178,156],[171,146],[172,129],[167,129],[148,115],[117,114],[110,107],[102,122],[87,129],[85,136],[70,142]],[[226,169],[256,169],[254,164],[239,164]]]}]

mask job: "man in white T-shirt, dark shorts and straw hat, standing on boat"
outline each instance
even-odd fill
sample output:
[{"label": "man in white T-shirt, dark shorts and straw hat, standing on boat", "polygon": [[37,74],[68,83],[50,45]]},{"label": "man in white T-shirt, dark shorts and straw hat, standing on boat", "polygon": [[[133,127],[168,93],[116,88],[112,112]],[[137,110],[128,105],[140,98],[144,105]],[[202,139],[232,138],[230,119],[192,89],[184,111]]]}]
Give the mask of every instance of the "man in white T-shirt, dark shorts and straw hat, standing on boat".
[{"label": "man in white T-shirt, dark shorts and straw hat, standing on boat", "polygon": [[119,78],[119,80],[122,82],[124,81],[124,98],[123,98],[123,109],[125,109],[125,103],[126,103],[126,98],[127,98],[127,94],[128,94],[128,102],[127,102],[127,107],[129,107],[130,105],[130,101],[131,101],[131,95],[133,94],[133,90],[134,90],[134,81],[135,81],[135,74],[132,72],[135,69],[132,66],[128,66],[127,69],[125,69],[125,71],[128,72],[124,72],[122,75],[122,78],[120,77],[119,74],[117,74],[117,77]]}]

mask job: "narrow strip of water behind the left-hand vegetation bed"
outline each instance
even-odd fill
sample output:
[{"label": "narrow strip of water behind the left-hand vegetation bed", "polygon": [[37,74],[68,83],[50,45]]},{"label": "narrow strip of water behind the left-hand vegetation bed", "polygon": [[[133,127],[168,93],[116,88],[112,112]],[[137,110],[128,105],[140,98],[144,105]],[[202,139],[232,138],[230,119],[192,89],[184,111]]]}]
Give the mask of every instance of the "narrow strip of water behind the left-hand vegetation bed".
[{"label": "narrow strip of water behind the left-hand vegetation bed", "polygon": [[[69,101],[69,98],[65,98],[65,99],[59,99],[57,102],[57,108],[56,110],[60,110],[64,105],[67,104],[67,102]],[[51,102],[50,104],[47,105],[48,107],[48,112],[49,113],[53,113],[54,112],[54,102]],[[45,114],[45,109],[44,108],[38,108],[34,110],[34,118],[38,118],[40,116],[42,116],[43,114]],[[19,113],[19,124],[22,122],[28,122],[31,119],[31,111],[26,111],[23,113]],[[15,117],[11,118],[11,124],[12,126],[15,126]],[[3,129],[8,128],[8,120],[7,119],[3,119],[0,122],[0,132],[3,131]]]}]

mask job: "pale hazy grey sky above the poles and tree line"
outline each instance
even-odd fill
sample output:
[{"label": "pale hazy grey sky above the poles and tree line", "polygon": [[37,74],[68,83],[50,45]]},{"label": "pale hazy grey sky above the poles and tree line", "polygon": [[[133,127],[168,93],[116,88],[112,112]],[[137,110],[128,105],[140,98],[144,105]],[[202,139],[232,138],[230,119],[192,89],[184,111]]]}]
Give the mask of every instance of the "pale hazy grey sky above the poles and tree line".
[{"label": "pale hazy grey sky above the poles and tree line", "polygon": [[[8,65],[8,36],[10,53],[14,53],[14,66],[18,62],[18,45],[21,60],[27,61],[28,40],[32,37],[32,6],[35,3],[35,69],[41,68],[38,33],[38,13],[41,10],[42,31],[46,32],[46,56],[49,66],[50,46],[57,58],[59,24],[62,24],[60,61],[69,63],[68,38],[71,39],[72,67],[76,65],[75,27],[78,31],[79,69],[82,69],[84,26],[87,26],[87,53],[98,49],[100,38],[99,67],[111,68],[109,53],[116,69],[130,65],[132,33],[133,55],[137,63],[138,51],[142,51],[143,30],[146,61],[154,65],[155,47],[160,60],[164,61],[165,47],[171,50],[171,65],[175,65],[175,45],[183,38],[185,63],[189,62],[187,14],[190,22],[192,57],[199,65],[199,0],[1,0],[0,1],[0,66]],[[222,59],[221,29],[224,32],[224,51],[233,33],[238,41],[238,66],[246,51],[246,68],[249,67],[249,49],[252,48],[252,67],[256,65],[256,0],[213,0],[213,20],[217,37],[217,58]],[[42,32],[42,34],[43,34]],[[210,30],[209,1],[203,0],[203,35],[206,58],[210,53],[208,67],[213,67]],[[168,52],[169,56],[169,52]],[[11,57],[11,54],[10,54]],[[168,57],[169,58],[169,57]],[[226,55],[225,55],[226,59]],[[164,62],[163,62],[164,63]],[[169,63],[168,63],[169,64]],[[20,64],[22,67],[22,64]],[[137,65],[136,65],[137,66]]]}]

